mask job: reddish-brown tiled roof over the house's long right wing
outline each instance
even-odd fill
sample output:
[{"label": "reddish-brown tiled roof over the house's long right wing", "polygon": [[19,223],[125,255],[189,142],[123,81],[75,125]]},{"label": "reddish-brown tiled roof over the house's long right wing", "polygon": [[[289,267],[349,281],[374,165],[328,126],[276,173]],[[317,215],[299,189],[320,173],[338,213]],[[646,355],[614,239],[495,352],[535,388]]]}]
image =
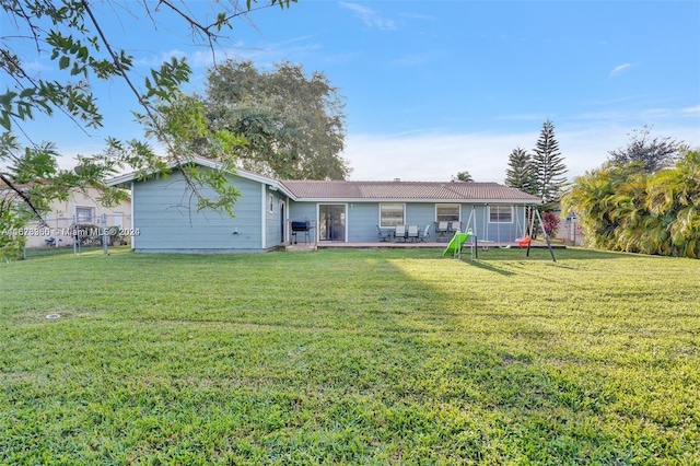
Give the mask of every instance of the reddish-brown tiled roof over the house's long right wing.
[{"label": "reddish-brown tiled roof over the house's long right wing", "polygon": [[298,200],[425,200],[425,201],[517,201],[539,199],[498,183],[464,182],[280,182]]}]

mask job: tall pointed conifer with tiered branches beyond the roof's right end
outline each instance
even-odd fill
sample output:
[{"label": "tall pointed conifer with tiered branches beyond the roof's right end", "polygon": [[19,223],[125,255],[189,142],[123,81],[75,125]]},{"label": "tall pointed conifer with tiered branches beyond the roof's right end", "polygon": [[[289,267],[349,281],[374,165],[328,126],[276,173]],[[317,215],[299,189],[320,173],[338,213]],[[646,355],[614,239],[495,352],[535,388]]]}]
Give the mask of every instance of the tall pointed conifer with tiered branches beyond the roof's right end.
[{"label": "tall pointed conifer with tiered branches beyond the roof's right end", "polygon": [[561,188],[567,182],[567,177],[562,176],[567,173],[567,165],[561,152],[559,152],[559,142],[555,139],[555,124],[549,118],[542,124],[542,130],[534,151],[535,195],[545,205],[558,202],[561,198]]}]

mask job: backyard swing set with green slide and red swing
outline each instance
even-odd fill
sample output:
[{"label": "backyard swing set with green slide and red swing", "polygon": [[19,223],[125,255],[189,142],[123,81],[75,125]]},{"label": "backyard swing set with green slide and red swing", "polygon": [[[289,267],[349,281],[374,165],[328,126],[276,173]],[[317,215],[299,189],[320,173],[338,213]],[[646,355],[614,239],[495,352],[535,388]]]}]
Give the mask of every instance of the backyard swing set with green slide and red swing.
[{"label": "backyard swing set with green slide and red swing", "polygon": [[[547,235],[547,231],[545,230],[545,222],[542,221],[542,218],[539,213],[539,209],[537,209],[537,207],[535,206],[530,207],[530,210],[528,213],[528,222],[527,222],[529,223],[529,229],[525,231],[526,234],[524,236],[516,238],[515,242],[521,248],[527,248],[525,256],[529,257],[529,251],[533,243],[533,235],[535,232],[535,220],[539,222],[539,226],[541,228],[542,236],[545,237],[545,242],[547,244],[547,248],[549,249],[551,260],[556,263],[557,258],[555,257],[555,251],[551,247],[549,235]],[[470,225],[474,225],[474,229],[470,228]],[[464,246],[467,245],[469,246],[469,260],[479,259],[479,240],[478,240],[478,235],[475,233],[476,222],[475,222],[475,215],[474,215],[474,207],[471,208],[471,212],[469,213],[469,220],[467,220],[466,228],[467,228],[467,231],[464,233],[459,231],[455,232],[455,235],[450,241],[450,244],[447,244],[447,247],[445,247],[445,251],[443,252],[443,256],[452,255],[454,258],[460,259]],[[471,241],[467,243],[469,240]],[[511,247],[510,244],[504,245],[504,244],[493,243],[493,242],[481,243],[481,247],[492,247],[492,246],[498,246],[501,248]]]}]

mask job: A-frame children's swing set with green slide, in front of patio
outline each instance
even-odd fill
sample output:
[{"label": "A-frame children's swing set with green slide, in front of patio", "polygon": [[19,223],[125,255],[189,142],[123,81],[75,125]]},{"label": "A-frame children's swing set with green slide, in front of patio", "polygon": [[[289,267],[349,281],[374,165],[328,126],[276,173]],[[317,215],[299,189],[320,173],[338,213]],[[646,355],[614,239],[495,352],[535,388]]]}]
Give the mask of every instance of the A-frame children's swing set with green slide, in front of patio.
[{"label": "A-frame children's swing set with green slide, in front of patio", "polygon": [[[485,205],[485,207],[488,205]],[[517,245],[521,248],[527,248],[526,252],[526,257],[529,257],[529,249],[532,247],[532,242],[533,242],[533,236],[534,236],[534,232],[535,232],[535,220],[537,220],[539,222],[539,226],[541,228],[541,232],[542,235],[545,236],[545,242],[547,243],[547,248],[549,249],[549,254],[551,256],[551,260],[552,261],[557,261],[557,258],[555,257],[555,251],[551,247],[551,242],[549,241],[549,235],[547,234],[547,231],[545,230],[545,222],[542,221],[542,218],[539,213],[539,209],[537,209],[536,206],[525,206],[525,215],[527,217],[525,220],[525,226],[527,226],[527,224],[529,223],[529,229],[524,229],[522,232],[522,236],[521,237],[516,237],[515,238],[515,243],[517,243]],[[486,214],[486,213],[485,213]],[[518,215],[515,215],[515,231],[516,233],[521,230],[521,224],[520,224],[520,219]],[[472,226],[472,228],[471,228]],[[467,228],[467,232],[466,233],[462,233],[462,232],[456,232],[455,236],[452,238],[452,241],[450,242],[450,244],[447,245],[447,247],[445,248],[445,251],[443,252],[443,255],[448,255],[452,254],[453,257],[456,258],[460,258],[462,257],[462,249],[465,245],[469,246],[470,248],[470,260],[474,260],[475,258],[478,259],[479,258],[479,240],[478,240],[478,235],[475,233],[477,231],[477,224],[476,224],[476,215],[475,215],[475,206],[471,206],[471,212],[469,213],[469,220],[467,220],[466,223],[466,228]],[[483,222],[483,237],[489,237],[488,236],[489,233],[489,222],[487,222],[485,220]],[[511,234],[510,237],[512,237],[513,235]],[[471,240],[470,243],[466,243],[468,240]],[[497,242],[490,242],[490,241],[482,241],[481,242],[481,247],[483,247],[485,249],[488,249],[488,247],[490,246],[499,246],[502,249],[508,249],[511,247],[511,244],[503,244],[501,243],[501,230],[497,229]]]}]

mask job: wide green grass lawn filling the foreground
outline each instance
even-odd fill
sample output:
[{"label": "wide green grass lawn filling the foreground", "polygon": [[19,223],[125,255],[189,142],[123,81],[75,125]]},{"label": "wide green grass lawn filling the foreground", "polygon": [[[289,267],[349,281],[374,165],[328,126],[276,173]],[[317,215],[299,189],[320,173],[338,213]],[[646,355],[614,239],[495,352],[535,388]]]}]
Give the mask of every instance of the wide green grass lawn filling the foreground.
[{"label": "wide green grass lawn filling the foreground", "polygon": [[0,264],[0,463],[700,464],[700,261],[532,256]]}]

